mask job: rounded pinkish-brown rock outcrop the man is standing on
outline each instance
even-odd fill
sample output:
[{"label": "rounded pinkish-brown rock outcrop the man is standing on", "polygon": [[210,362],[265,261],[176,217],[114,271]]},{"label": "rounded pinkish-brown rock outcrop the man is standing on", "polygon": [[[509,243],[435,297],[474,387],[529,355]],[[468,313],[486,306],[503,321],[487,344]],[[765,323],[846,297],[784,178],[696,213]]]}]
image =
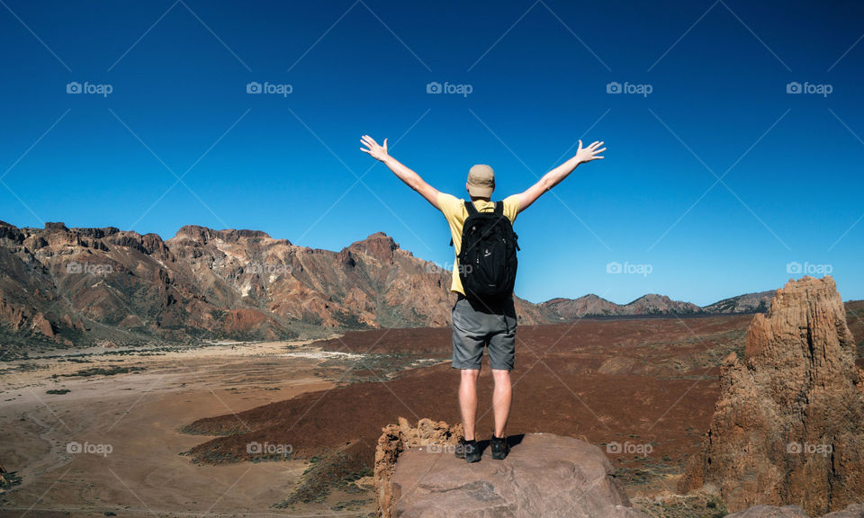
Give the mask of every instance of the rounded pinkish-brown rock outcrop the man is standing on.
[{"label": "rounded pinkish-brown rock outcrop the man is standing on", "polygon": [[383,429],[375,456],[378,515],[462,518],[646,517],[630,507],[606,455],[552,433],[518,438],[505,460],[456,459],[460,431],[446,423],[400,420]]}]

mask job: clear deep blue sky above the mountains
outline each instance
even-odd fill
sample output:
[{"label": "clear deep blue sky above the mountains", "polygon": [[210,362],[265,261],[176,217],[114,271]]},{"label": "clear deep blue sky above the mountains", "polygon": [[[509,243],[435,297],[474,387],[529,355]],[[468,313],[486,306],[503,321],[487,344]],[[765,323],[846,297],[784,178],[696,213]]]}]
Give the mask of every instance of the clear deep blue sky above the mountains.
[{"label": "clear deep blue sky above the mountains", "polygon": [[3,0],[0,219],[331,250],[383,231],[446,264],[445,220],[361,135],[455,195],[490,164],[498,198],[601,139],[519,216],[518,295],[704,305],[831,272],[864,299],[862,21],[849,2]]}]

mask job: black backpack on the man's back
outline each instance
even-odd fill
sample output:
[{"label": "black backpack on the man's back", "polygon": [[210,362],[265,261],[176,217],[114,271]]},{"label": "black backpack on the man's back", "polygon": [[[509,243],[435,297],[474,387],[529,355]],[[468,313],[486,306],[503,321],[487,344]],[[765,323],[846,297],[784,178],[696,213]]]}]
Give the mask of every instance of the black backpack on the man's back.
[{"label": "black backpack on the man's back", "polygon": [[[504,202],[493,212],[480,212],[465,201],[468,218],[462,229],[459,279],[469,299],[498,302],[513,294],[516,282],[518,236],[504,215]],[[452,243],[451,243],[452,244]]]}]

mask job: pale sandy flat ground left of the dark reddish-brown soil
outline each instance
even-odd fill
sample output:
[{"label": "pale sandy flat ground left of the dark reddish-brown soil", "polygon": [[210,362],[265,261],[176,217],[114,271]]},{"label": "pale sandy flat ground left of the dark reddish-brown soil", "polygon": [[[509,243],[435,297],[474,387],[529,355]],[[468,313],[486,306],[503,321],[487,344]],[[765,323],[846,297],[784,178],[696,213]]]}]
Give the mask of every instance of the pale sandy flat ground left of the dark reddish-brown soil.
[{"label": "pale sandy flat ground left of the dark reddish-brown soil", "polygon": [[[325,504],[275,509],[308,467],[305,460],[198,466],[178,455],[207,437],[184,424],[240,412],[332,386],[312,371],[333,353],[287,343],[218,344],[155,356],[88,357],[92,363],[0,364],[0,463],[21,486],[0,494],[0,516],[365,516],[369,494],[333,495]],[[98,350],[92,353],[100,353]],[[104,351],[101,351],[102,353]],[[350,355],[342,356],[350,360]],[[52,374],[111,364],[146,371],[66,378]],[[67,388],[50,395],[51,388]],[[70,453],[68,442],[107,455]],[[367,500],[353,511],[338,502]]]}]

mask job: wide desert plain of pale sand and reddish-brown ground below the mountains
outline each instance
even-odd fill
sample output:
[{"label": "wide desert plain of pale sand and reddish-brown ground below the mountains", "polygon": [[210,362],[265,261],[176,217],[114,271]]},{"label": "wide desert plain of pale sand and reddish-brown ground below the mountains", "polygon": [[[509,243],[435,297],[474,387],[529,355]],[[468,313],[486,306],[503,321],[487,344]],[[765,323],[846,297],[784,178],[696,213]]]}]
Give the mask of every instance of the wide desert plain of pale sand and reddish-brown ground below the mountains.
[{"label": "wide desert plain of pale sand and reddish-brown ground below the mountains", "polygon": [[[861,348],[864,304],[847,309]],[[742,353],[751,319],[521,326],[508,432],[598,444],[636,506],[675,515],[692,504],[674,488],[714,411],[718,365]],[[382,329],[4,362],[0,463],[15,485],[0,493],[0,516],[374,515],[365,477],[381,428],[400,416],[459,421],[449,333]],[[481,384],[483,438],[485,360]],[[291,451],[249,461],[255,442]]]}]

